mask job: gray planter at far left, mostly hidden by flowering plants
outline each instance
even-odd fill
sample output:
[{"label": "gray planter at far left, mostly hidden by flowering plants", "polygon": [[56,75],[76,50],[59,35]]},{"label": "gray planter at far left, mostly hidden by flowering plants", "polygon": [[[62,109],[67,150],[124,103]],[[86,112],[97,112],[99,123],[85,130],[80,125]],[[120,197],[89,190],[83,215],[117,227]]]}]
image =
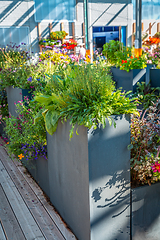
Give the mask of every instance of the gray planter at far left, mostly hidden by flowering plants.
[{"label": "gray planter at far left, mostly hidden by flowering plants", "polygon": [[6,88],[7,91],[7,101],[8,101],[8,111],[12,116],[17,117],[16,105],[18,101],[24,100],[25,96],[31,99],[32,94],[29,89],[13,88],[12,86]]}]

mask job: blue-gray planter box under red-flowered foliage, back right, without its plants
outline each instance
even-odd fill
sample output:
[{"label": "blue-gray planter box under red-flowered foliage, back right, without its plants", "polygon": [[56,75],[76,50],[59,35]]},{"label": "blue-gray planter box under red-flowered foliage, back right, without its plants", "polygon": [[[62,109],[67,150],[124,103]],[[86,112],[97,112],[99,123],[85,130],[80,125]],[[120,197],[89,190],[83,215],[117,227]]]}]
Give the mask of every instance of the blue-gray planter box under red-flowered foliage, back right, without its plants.
[{"label": "blue-gray planter box under red-flowered foliage, back right, without its plants", "polygon": [[111,72],[113,80],[116,82],[116,88],[122,87],[124,91],[136,91],[137,82],[145,82],[146,69],[133,69],[129,72],[112,67]]}]

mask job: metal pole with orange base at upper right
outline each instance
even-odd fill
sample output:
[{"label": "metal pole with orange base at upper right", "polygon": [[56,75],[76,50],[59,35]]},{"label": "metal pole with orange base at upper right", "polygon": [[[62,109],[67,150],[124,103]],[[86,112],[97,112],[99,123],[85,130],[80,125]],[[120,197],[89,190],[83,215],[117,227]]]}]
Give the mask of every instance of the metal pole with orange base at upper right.
[{"label": "metal pole with orange base at upper right", "polygon": [[142,55],[142,0],[136,0],[136,36],[135,36],[135,55]]}]

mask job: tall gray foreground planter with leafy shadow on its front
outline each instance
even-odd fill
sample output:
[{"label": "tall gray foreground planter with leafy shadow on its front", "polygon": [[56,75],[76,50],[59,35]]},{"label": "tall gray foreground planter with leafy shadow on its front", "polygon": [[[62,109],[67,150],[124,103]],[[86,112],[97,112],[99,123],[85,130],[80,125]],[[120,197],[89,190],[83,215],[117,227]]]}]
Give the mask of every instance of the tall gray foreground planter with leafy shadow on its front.
[{"label": "tall gray foreground planter with leafy shadow on its front", "polygon": [[50,200],[79,240],[130,239],[129,117],[114,119],[71,141],[69,121],[47,135]]}]

